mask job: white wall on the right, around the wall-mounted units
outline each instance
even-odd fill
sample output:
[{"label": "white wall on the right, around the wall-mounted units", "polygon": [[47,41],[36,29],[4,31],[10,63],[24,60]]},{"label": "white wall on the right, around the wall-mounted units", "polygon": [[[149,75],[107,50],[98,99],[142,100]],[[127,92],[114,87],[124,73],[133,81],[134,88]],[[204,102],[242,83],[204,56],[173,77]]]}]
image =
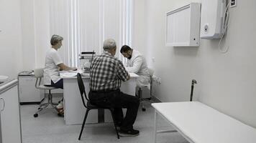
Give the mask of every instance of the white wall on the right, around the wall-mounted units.
[{"label": "white wall on the right, around the wall-mounted units", "polygon": [[[188,4],[188,0],[138,0],[134,15],[134,47],[140,47],[162,84],[155,96],[163,102],[188,101],[191,79],[196,79],[196,99],[256,127],[256,1],[239,1],[231,9],[229,30],[224,39],[227,54],[218,51],[218,40],[201,40],[199,47],[165,46],[165,13]],[[142,19],[145,19],[143,21]],[[137,26],[137,28],[136,28]],[[144,35],[140,27],[146,27]],[[139,27],[139,28],[138,28]],[[144,40],[139,40],[145,37]],[[152,61],[155,57],[155,62]]]}]

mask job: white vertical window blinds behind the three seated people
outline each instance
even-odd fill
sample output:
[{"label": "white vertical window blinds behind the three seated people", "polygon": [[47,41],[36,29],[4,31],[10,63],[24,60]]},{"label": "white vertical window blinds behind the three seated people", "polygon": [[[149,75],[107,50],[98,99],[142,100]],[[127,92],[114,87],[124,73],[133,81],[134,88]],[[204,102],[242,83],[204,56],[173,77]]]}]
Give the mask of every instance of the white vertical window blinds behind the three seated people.
[{"label": "white vertical window blinds behind the three seated people", "polygon": [[131,44],[132,0],[50,1],[50,34],[63,36],[60,54],[69,66],[79,66],[81,51],[101,54],[104,39],[115,39],[119,49]]}]

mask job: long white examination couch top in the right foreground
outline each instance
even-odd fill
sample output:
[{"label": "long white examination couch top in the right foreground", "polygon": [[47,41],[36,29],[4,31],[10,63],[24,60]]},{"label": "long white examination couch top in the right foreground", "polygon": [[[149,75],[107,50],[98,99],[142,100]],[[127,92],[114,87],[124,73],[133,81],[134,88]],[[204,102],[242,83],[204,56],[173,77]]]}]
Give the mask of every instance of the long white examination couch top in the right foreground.
[{"label": "long white examination couch top in the right foreground", "polygon": [[255,128],[201,102],[163,102],[152,107],[191,142],[256,142]]}]

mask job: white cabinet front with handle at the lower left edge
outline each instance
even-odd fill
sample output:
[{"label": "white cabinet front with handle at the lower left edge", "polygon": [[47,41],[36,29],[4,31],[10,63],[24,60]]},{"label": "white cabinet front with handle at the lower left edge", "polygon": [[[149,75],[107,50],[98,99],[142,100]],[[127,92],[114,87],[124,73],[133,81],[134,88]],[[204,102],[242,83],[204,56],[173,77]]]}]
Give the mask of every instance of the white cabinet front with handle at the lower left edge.
[{"label": "white cabinet front with handle at the lower left edge", "polygon": [[2,143],[20,143],[21,128],[17,86],[0,95]]}]

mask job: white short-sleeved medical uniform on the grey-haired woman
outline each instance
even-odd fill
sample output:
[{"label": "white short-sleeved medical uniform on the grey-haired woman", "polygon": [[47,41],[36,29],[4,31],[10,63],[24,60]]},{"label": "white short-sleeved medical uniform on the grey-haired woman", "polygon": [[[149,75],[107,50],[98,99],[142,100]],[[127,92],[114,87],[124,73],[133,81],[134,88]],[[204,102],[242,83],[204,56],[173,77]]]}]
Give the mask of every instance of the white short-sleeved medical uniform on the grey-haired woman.
[{"label": "white short-sleeved medical uniform on the grey-haired woman", "polygon": [[45,69],[44,69],[44,84],[50,85],[52,82],[56,83],[60,80],[60,69],[58,64],[63,63],[58,54],[58,51],[50,48],[45,56]]}]

